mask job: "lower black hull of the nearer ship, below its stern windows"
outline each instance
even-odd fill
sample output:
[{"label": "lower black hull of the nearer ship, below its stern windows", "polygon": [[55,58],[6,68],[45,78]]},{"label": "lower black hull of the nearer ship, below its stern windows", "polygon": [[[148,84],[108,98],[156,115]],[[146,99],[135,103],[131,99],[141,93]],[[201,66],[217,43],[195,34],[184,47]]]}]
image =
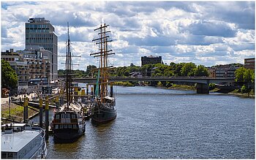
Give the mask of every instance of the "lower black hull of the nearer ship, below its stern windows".
[{"label": "lower black hull of the nearer ship, below its stern windows", "polygon": [[54,138],[58,140],[75,140],[84,134],[85,129],[83,131],[79,131],[80,129],[55,129]]}]

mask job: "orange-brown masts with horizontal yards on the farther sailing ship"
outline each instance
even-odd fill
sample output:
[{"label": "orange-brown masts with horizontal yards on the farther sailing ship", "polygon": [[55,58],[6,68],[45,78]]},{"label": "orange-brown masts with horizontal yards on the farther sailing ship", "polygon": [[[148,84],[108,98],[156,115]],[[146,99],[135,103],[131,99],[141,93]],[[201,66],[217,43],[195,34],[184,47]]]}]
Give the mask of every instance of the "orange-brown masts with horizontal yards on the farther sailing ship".
[{"label": "orange-brown masts with horizontal yards on the farther sailing ship", "polygon": [[108,96],[108,70],[113,66],[108,66],[108,56],[113,55],[115,53],[111,53],[113,50],[108,50],[108,42],[112,42],[112,40],[108,39],[108,33],[110,31],[106,31],[106,28],[109,25],[100,25],[99,28],[94,29],[94,31],[99,31],[99,38],[93,39],[93,42],[96,42],[96,45],[99,45],[98,53],[91,53],[90,56],[100,57],[100,65],[99,65],[99,82],[100,82],[100,102],[104,103],[105,96]]}]

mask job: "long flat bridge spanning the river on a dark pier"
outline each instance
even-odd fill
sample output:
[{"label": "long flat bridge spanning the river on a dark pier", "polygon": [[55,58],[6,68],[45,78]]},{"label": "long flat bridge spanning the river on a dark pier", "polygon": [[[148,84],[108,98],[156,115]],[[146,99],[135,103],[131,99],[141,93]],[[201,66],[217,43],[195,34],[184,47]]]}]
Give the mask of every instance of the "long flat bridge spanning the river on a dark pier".
[{"label": "long flat bridge spanning the river on a dark pier", "polygon": [[[96,83],[96,77],[74,78],[76,83]],[[208,94],[209,83],[233,83],[234,79],[227,77],[109,77],[110,82],[138,82],[138,81],[170,81],[170,82],[188,82],[197,83],[197,94]]]}]

